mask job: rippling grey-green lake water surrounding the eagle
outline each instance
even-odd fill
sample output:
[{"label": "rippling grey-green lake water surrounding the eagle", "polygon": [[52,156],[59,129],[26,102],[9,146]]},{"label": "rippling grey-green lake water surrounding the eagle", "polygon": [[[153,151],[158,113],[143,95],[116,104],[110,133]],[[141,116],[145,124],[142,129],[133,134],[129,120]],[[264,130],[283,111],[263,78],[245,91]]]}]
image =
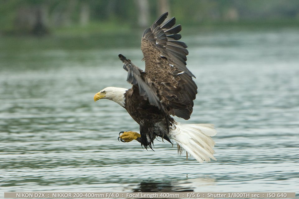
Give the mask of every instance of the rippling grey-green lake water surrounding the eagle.
[{"label": "rippling grey-green lake water surrounding the eagle", "polygon": [[[140,34],[0,38],[0,197],[3,192],[297,192],[299,31],[183,32],[197,77],[191,119],[218,131],[217,161],[169,143],[117,141],[138,131],[125,109],[93,101],[127,87],[118,54],[144,68]],[[112,43],[112,47],[109,47]],[[128,47],[127,47],[128,46]]]}]

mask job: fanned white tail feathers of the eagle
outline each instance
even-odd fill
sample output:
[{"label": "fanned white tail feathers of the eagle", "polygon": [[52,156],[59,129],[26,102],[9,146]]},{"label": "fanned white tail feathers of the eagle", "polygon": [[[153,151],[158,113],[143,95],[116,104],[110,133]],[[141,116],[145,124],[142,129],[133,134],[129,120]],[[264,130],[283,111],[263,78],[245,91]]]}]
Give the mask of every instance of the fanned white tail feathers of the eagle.
[{"label": "fanned white tail feathers of the eagle", "polygon": [[176,124],[169,135],[198,162],[216,160],[213,147],[215,142],[210,136],[216,135],[211,124]]}]

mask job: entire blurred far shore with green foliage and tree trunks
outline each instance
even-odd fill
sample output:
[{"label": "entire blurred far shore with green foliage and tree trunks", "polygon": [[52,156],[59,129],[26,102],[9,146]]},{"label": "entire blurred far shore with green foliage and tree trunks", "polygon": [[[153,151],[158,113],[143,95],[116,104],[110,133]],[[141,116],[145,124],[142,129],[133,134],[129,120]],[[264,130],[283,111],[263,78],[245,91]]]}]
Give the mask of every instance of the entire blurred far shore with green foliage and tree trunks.
[{"label": "entire blurred far shore with green foliage and tree trunks", "polygon": [[299,21],[298,0],[0,0],[0,31],[43,35],[101,22],[147,27],[166,11],[185,25]]}]

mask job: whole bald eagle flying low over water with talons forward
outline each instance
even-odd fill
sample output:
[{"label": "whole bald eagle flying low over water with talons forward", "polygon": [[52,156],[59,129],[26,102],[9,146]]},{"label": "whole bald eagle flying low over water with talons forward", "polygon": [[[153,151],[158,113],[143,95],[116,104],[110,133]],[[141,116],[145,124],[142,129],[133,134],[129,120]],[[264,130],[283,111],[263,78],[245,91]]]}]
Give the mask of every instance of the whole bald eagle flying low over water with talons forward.
[{"label": "whole bald eagle flying low over water with talons forward", "polygon": [[[119,133],[119,140],[137,140],[146,149],[156,137],[173,144],[177,142],[178,152],[183,148],[197,161],[216,160],[213,156],[215,142],[211,136],[216,130],[211,124],[180,124],[172,116],[189,119],[197,86],[195,77],[186,67],[187,45],[178,41],[181,25],[175,25],[172,17],[163,23],[168,12],[161,15],[141,39],[145,70],[135,66],[130,59],[119,54],[128,72],[130,89],[107,87],[94,95],[98,99],[110,99],[127,110],[140,125],[140,134],[132,131]],[[163,24],[162,24],[163,23]]]}]

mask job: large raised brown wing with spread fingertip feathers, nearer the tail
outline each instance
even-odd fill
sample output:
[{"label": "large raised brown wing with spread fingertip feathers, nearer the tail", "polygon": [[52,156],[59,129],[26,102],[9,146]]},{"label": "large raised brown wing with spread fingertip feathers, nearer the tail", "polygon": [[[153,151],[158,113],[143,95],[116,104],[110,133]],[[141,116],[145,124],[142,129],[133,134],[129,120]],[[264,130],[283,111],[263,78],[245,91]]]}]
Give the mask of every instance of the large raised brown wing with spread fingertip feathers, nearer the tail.
[{"label": "large raised brown wing with spread fingertip feathers, nearer the tail", "polygon": [[178,41],[182,27],[174,26],[174,17],[162,24],[167,16],[167,12],[160,16],[142,35],[145,72],[159,86],[159,95],[168,100],[169,113],[189,119],[197,86],[186,67],[187,45]]}]

